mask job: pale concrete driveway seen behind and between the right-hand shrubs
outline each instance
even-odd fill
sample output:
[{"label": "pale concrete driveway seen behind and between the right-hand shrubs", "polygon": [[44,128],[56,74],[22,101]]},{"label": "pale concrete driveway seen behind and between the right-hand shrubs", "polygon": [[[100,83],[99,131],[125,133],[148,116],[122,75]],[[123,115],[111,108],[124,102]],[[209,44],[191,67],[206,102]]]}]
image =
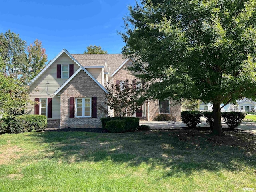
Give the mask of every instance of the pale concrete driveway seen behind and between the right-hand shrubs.
[{"label": "pale concrete driveway seen behind and between the right-hand shrubs", "polygon": [[[228,127],[224,121],[221,122],[222,127]],[[148,125],[151,129],[168,129],[168,122],[167,121],[140,121],[140,125]],[[205,118],[201,118],[201,123],[197,125],[198,127],[209,127],[209,124],[206,123]],[[175,128],[181,129],[182,127],[186,127],[186,125],[182,121],[176,121]],[[173,129],[173,126],[170,126],[170,129]],[[236,129],[244,129],[244,130],[251,130],[256,132],[256,123],[255,122],[248,122],[242,121],[242,123],[236,127]]]}]

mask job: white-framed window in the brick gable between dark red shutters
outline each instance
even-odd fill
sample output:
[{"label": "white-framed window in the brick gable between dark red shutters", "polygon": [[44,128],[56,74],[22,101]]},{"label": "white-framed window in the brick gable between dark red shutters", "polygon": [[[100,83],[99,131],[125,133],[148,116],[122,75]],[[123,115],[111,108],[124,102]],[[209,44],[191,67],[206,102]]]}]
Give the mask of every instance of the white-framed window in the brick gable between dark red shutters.
[{"label": "white-framed window in the brick gable between dark red shutters", "polygon": [[76,98],[76,117],[91,117],[92,98]]}]

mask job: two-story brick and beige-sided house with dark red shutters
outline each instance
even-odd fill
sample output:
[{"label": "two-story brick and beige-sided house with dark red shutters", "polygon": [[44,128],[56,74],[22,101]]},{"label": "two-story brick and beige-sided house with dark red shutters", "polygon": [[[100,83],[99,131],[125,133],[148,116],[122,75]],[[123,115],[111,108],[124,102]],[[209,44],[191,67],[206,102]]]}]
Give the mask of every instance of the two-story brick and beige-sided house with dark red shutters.
[{"label": "two-story brick and beige-sided house with dark red shutters", "polygon": [[[48,127],[100,128],[100,118],[106,117],[97,108],[106,101],[104,83],[134,81],[129,65],[132,60],[121,54],[70,54],[63,49],[31,80],[30,100],[36,104],[28,104],[26,114],[46,115]],[[180,112],[180,105],[155,100],[138,104],[133,116],[151,121],[161,113],[179,120]]]}]

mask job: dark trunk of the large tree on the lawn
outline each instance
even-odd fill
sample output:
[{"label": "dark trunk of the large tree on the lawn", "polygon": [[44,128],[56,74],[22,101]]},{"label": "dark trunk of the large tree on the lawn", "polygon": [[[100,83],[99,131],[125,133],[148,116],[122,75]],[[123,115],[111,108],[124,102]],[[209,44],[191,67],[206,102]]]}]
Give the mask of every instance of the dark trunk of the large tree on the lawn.
[{"label": "dark trunk of the large tree on the lawn", "polygon": [[212,134],[218,136],[224,136],[222,127],[221,127],[221,113],[220,113],[220,103],[213,103],[213,130]]}]

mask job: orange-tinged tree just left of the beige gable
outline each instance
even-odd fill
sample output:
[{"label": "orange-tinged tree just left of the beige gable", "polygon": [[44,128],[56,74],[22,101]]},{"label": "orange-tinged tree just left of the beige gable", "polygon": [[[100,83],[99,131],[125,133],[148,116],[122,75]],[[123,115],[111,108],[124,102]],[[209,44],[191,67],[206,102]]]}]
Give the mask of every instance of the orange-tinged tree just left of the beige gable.
[{"label": "orange-tinged tree just left of the beige gable", "polygon": [[42,47],[42,42],[38,39],[34,44],[27,47],[29,77],[33,79],[44,67],[47,62],[47,55],[45,49]]}]

